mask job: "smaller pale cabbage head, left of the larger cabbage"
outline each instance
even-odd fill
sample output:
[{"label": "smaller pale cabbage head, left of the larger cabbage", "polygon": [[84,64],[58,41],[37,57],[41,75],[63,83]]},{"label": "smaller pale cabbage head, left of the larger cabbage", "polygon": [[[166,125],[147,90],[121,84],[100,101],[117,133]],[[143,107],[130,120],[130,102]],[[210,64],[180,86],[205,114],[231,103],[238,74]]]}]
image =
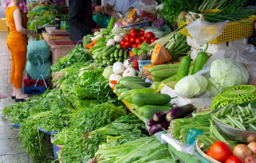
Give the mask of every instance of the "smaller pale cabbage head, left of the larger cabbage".
[{"label": "smaller pale cabbage head, left of the larger cabbage", "polygon": [[174,92],[180,96],[190,98],[205,92],[207,85],[208,81],[204,76],[200,74],[187,75],[177,82]]}]

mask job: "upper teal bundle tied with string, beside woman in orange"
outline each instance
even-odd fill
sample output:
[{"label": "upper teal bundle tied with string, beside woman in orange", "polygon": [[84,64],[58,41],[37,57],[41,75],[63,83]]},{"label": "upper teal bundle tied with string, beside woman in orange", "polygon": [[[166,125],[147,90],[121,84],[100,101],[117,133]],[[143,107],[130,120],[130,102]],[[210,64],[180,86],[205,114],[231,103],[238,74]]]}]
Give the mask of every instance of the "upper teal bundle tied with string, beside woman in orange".
[{"label": "upper teal bundle tied with string, beside woman in orange", "polygon": [[27,59],[32,64],[40,65],[50,57],[50,48],[45,40],[32,41],[28,45]]}]

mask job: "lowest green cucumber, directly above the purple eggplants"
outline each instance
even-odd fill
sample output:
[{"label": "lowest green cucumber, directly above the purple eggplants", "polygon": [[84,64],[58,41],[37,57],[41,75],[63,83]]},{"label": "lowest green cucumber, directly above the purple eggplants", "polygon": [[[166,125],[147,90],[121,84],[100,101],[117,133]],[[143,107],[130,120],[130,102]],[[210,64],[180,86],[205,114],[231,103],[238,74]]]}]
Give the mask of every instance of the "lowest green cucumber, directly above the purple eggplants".
[{"label": "lowest green cucumber, directly above the purple eggplants", "polygon": [[155,105],[144,105],[139,108],[139,114],[144,116],[146,119],[152,119],[153,115],[158,111],[171,110],[171,107],[167,106],[155,106]]}]

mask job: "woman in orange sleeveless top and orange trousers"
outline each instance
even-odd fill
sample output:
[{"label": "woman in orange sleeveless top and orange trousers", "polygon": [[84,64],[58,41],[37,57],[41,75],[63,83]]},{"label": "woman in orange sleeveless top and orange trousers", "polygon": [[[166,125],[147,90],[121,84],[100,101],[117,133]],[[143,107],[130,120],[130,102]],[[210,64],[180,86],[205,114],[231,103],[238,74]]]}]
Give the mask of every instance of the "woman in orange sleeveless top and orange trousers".
[{"label": "woman in orange sleeveless top and orange trousers", "polygon": [[13,84],[12,99],[16,102],[25,101],[28,95],[22,92],[22,75],[25,68],[27,53],[27,35],[36,36],[36,33],[27,29],[28,18],[18,7],[21,0],[11,0],[6,8],[5,15],[10,32],[7,46],[11,52],[11,83]]}]

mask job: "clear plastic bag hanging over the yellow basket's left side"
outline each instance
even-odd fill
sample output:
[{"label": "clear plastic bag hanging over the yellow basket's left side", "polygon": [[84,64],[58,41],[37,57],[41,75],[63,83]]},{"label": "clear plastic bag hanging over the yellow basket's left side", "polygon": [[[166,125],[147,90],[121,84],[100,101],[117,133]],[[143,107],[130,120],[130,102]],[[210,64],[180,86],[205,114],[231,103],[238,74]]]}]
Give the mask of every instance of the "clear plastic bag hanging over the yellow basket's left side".
[{"label": "clear plastic bag hanging over the yellow basket's left side", "polygon": [[204,44],[220,36],[228,22],[230,21],[211,23],[198,18],[187,25],[187,30],[197,44]]}]

